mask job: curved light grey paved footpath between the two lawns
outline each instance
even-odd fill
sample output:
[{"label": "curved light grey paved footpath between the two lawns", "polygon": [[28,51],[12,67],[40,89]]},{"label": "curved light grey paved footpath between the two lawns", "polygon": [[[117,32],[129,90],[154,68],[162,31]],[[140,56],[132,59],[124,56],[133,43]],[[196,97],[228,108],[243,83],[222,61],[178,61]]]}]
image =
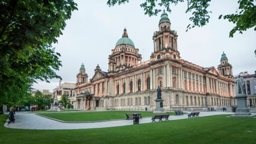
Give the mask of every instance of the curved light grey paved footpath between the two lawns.
[{"label": "curved light grey paved footpath between the two lawns", "polygon": [[[190,113],[190,112],[188,112]],[[209,115],[232,115],[234,113],[227,113],[227,112],[200,112],[199,116],[209,116]],[[169,120],[176,120],[176,119],[185,119],[188,118],[187,115],[170,115]],[[125,125],[132,125],[133,120],[113,120],[113,121],[104,121],[104,122],[89,122],[89,123],[65,123],[59,122],[56,120],[52,120],[49,118],[45,118],[42,116],[38,116],[35,114],[29,113],[16,113],[15,115],[15,123],[5,123],[4,126],[8,128],[15,128],[15,129],[89,129],[89,128],[104,128],[104,127],[116,127],[116,126],[125,126]],[[145,117],[139,119],[139,123],[151,123],[151,117]],[[158,121],[158,120],[156,120]]]}]

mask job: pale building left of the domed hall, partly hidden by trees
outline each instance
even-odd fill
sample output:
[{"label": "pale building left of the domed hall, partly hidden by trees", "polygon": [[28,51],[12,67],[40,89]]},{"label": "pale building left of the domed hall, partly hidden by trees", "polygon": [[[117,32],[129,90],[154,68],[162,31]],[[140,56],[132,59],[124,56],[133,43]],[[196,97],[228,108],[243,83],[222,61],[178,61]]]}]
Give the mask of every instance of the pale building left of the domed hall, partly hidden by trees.
[{"label": "pale building left of the domed hall, partly hidden by trees", "polygon": [[75,101],[75,86],[76,84],[74,83],[62,84],[62,81],[59,81],[59,86],[53,89],[53,94],[57,97],[58,101],[61,100],[62,95],[66,95],[73,105]]}]

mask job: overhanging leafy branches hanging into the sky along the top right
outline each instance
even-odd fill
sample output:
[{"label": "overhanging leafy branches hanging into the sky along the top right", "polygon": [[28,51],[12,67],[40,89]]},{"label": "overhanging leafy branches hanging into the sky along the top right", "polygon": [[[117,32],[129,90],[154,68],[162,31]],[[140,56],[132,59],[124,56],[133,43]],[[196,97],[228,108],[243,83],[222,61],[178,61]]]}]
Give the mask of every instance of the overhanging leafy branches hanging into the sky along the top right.
[{"label": "overhanging leafy branches hanging into the sky along the top right", "polygon": [[[209,22],[211,11],[207,10],[209,7],[209,2],[211,0],[145,0],[145,2],[140,4],[145,11],[145,15],[153,16],[157,15],[161,10],[156,8],[157,5],[166,8],[168,12],[171,13],[170,4],[176,5],[179,2],[188,2],[188,9],[186,13],[192,12],[192,17],[188,29],[194,27],[202,27]],[[116,4],[120,5],[129,2],[129,0],[108,0],[107,4],[109,6],[114,6]],[[238,0],[239,8],[235,14],[220,15],[219,19],[227,19],[229,22],[235,24],[235,27],[229,32],[229,37],[233,37],[236,31],[243,33],[243,31],[254,28],[256,30],[256,5],[255,0]]]}]

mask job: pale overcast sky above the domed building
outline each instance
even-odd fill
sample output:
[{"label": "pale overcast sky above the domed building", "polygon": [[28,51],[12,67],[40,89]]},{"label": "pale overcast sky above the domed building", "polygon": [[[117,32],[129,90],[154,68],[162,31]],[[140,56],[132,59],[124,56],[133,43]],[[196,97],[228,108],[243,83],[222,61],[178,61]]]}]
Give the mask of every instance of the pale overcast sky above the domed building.
[{"label": "pale overcast sky above the domed building", "polygon": [[[94,69],[99,64],[101,70],[108,70],[108,56],[115,44],[122,37],[126,27],[128,37],[133,41],[142,60],[148,60],[153,52],[152,36],[159,30],[158,16],[144,15],[139,6],[144,0],[130,0],[129,3],[108,7],[107,0],[75,0],[78,10],[71,19],[66,21],[63,35],[58,38],[58,44],[53,47],[61,53],[62,67],[57,72],[63,82],[76,83],[76,74],[82,63],[91,79]],[[217,69],[224,51],[228,61],[233,66],[233,74],[248,71],[254,74],[256,70],[256,31],[249,29],[243,34],[236,32],[229,38],[229,31],[234,24],[227,20],[219,20],[221,14],[231,14],[238,7],[237,0],[212,0],[209,10],[211,18],[202,28],[194,28],[186,32],[191,22],[191,14],[186,14],[187,2],[171,6],[172,13],[167,13],[171,21],[171,30],[178,34],[178,51],[182,59],[202,67],[214,66]],[[59,80],[51,83],[38,81],[35,89],[49,89],[58,86]]]}]

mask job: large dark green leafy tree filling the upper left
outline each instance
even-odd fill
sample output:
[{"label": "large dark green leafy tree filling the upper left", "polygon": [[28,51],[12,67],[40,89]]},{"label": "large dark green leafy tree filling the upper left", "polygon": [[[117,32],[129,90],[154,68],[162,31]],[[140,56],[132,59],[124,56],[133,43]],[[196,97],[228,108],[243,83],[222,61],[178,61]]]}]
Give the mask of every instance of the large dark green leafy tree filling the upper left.
[{"label": "large dark green leafy tree filling the upper left", "polygon": [[0,105],[13,105],[37,79],[61,78],[52,43],[76,9],[73,0],[0,0]]}]

